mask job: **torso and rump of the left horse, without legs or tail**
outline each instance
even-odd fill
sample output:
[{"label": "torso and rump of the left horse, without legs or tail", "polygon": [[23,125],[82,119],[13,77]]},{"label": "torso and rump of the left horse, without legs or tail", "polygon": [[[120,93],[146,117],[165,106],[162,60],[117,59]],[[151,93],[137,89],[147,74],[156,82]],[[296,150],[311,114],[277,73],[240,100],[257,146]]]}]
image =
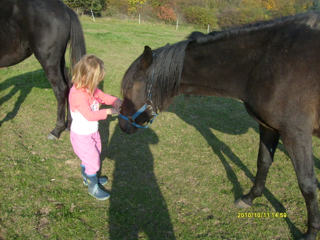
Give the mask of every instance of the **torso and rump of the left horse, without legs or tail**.
[{"label": "torso and rump of the left horse, without legs or tail", "polygon": [[70,35],[68,7],[59,0],[2,0],[0,66],[11,66],[50,46],[62,54]]}]

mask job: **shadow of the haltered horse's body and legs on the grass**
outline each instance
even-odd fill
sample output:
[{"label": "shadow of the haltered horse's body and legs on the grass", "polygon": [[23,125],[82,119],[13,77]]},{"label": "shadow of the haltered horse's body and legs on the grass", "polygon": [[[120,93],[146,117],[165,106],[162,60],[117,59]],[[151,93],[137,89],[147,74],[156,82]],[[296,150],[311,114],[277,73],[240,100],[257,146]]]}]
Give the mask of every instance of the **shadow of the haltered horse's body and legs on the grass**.
[{"label": "shadow of the haltered horse's body and legs on the grass", "polygon": [[[198,105],[201,105],[202,107],[199,108]],[[249,117],[245,109],[243,111],[238,110],[241,108],[244,109],[243,103],[234,99],[201,97],[195,98],[195,101],[189,100],[186,102],[183,100],[183,97],[178,97],[174,101],[174,104],[167,109],[202,134],[212,148],[212,151],[218,156],[223,164],[227,178],[233,185],[232,192],[235,200],[247,192],[244,193],[244,189],[241,187],[236,173],[233,171],[229,162],[232,162],[232,164],[240,168],[252,183],[255,178],[255,173],[252,173],[239,157],[233,153],[232,149],[212,133],[211,129],[237,135],[244,134],[248,132],[249,128],[252,128],[259,134],[259,125],[257,122]],[[259,148],[259,142],[257,142],[257,148]],[[278,144],[278,150],[283,151],[288,155],[280,142]],[[256,161],[256,158],[253,159],[253,161]],[[316,167],[320,169],[319,159],[315,158],[315,163]],[[285,207],[276,199],[267,187],[264,190],[264,196],[274,207],[276,212],[286,212]],[[294,238],[298,238],[303,234],[289,218],[285,218],[284,220]]]}]

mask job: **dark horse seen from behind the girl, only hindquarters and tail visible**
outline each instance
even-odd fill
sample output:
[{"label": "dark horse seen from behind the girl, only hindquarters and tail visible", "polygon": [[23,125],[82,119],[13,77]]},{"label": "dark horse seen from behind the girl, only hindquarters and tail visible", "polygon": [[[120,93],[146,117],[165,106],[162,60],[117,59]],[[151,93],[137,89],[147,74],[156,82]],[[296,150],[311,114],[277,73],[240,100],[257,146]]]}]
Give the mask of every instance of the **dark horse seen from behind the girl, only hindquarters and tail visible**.
[{"label": "dark horse seen from behind the girl, only hindquarters and tail visible", "polygon": [[85,42],[78,16],[60,0],[0,1],[0,67],[17,64],[32,53],[40,62],[58,101],[57,123],[48,139],[58,139],[70,129],[66,102],[72,86],[65,53],[70,42],[70,68],[85,54]]}]

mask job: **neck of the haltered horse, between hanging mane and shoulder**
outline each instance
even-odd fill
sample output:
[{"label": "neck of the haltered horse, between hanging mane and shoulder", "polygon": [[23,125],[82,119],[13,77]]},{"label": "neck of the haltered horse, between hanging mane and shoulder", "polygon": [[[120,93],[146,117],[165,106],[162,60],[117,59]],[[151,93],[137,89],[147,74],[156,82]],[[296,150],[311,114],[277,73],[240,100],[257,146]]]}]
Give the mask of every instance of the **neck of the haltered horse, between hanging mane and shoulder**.
[{"label": "neck of the haltered horse, between hanging mane and shoulder", "polygon": [[248,78],[261,59],[259,39],[248,36],[191,44],[185,54],[180,94],[244,100]]}]

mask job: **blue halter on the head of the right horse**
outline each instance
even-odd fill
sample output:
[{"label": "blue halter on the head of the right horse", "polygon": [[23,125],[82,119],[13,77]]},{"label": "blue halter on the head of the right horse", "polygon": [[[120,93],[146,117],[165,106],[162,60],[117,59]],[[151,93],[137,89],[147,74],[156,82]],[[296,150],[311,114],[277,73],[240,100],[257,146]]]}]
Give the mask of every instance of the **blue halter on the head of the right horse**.
[{"label": "blue halter on the head of the right horse", "polygon": [[[153,54],[154,56],[154,54]],[[153,70],[153,73],[154,73],[154,70]],[[147,103],[145,103],[135,114],[133,114],[132,116],[123,116],[122,114],[119,114],[119,117],[121,117],[122,119],[128,121],[129,123],[131,123],[133,126],[137,127],[137,128],[148,128],[152,123],[153,121],[156,119],[156,116],[159,115],[160,113],[160,109],[158,107],[156,107],[156,112],[152,111],[152,101],[151,101],[151,95],[152,95],[152,92],[151,92],[151,88],[152,88],[152,84],[153,84],[153,73],[152,73],[152,76],[151,76],[151,84],[150,84],[150,87],[148,89],[148,98],[147,98],[147,102],[150,102],[150,105],[148,105]],[[146,109],[149,109],[151,111],[151,115],[153,115],[154,117],[147,121],[147,125],[146,126],[140,126],[138,124],[136,124],[134,122],[134,120]]]}]

